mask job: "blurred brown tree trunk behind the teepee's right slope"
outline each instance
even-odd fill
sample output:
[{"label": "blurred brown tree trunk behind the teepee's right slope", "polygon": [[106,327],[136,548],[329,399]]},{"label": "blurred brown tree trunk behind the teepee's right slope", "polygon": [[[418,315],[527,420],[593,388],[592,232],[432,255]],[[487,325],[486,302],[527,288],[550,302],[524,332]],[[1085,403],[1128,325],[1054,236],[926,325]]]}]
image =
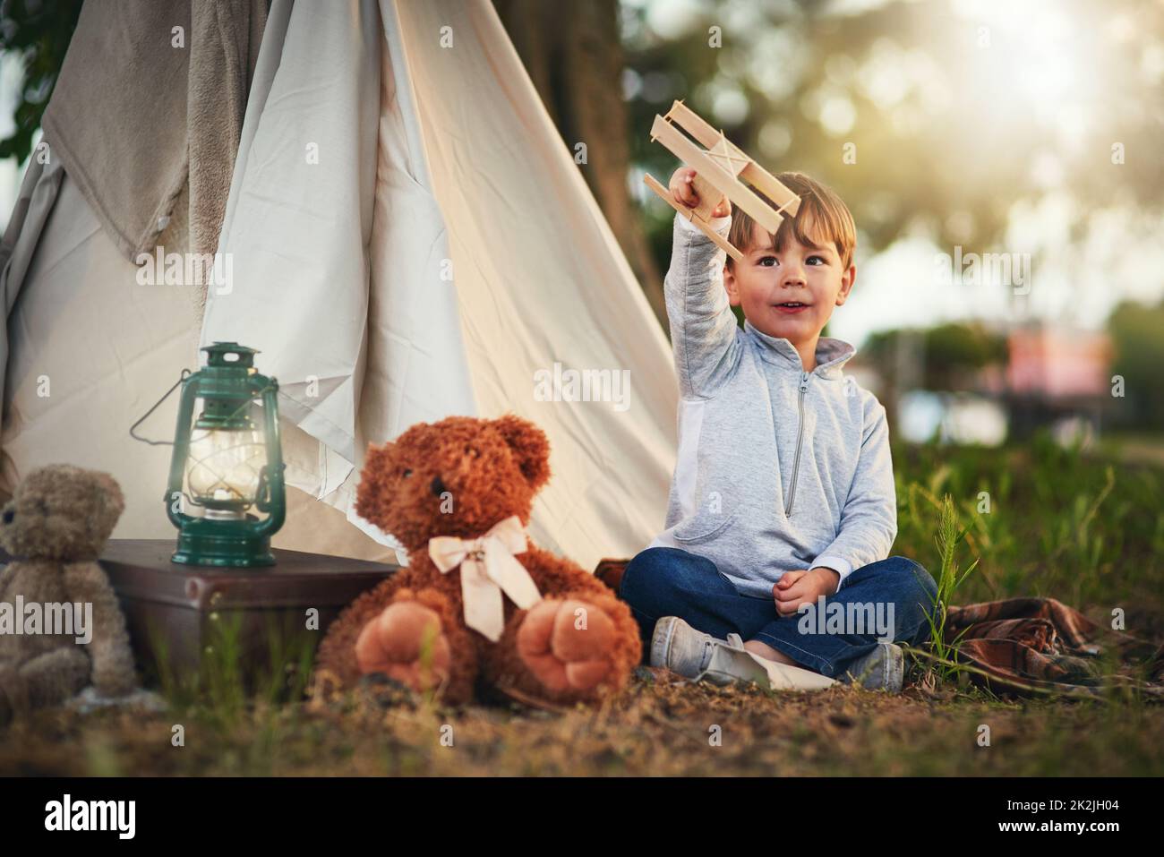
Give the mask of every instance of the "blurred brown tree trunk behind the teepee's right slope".
[{"label": "blurred brown tree trunk behind the teepee's right slope", "polygon": [[558,3],[494,0],[513,47],[610,224],[651,304],[666,324],[662,282],[627,187],[630,125],[623,99],[617,0]]}]

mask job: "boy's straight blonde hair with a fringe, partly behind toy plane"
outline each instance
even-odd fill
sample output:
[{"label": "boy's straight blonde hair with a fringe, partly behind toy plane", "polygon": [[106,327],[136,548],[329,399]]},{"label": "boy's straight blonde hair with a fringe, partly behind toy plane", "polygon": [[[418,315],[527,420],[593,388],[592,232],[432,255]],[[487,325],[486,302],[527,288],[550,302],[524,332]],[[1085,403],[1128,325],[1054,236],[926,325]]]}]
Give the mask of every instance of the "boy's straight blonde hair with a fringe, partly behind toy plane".
[{"label": "boy's straight blonde hair with a fringe, partly behind toy plane", "polygon": [[[776,234],[768,233],[773,249],[778,253],[782,252],[788,246],[789,240],[794,238],[805,247],[831,243],[836,246],[840,256],[842,270],[847,270],[853,262],[853,250],[857,248],[857,227],[849,207],[832,189],[803,172],[781,172],[776,178],[800,197],[801,203],[795,218],[789,218],[786,214]],[[754,187],[752,192],[772,205],[773,208],[779,207]],[[746,212],[738,205],[732,205],[731,229],[728,233],[728,240],[744,253],[754,249],[753,224],[755,221]],[[731,256],[728,256],[728,264],[732,264]]]}]

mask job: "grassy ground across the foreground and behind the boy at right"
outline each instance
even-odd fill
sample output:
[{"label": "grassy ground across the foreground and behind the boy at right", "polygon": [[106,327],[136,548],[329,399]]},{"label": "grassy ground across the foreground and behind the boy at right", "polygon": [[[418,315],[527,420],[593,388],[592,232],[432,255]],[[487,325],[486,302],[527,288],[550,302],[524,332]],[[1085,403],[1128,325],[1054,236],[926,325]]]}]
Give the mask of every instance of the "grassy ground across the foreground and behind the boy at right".
[{"label": "grassy ground across the foreground and behind the boy at right", "polygon": [[[930,569],[941,603],[1046,595],[1096,621],[1121,608],[1129,632],[1164,637],[1157,560],[1164,469],[1045,438],[1001,451],[902,447],[894,460],[894,553]],[[403,694],[385,682],[305,699],[310,651],[271,635],[271,660],[284,666],[248,679],[237,626],[226,616],[218,622],[200,673],[161,671],[169,710],[41,713],[0,731],[0,773],[1164,772],[1164,706],[1122,688],[1094,701],[996,699],[952,666],[951,645],[932,646],[922,680],[900,696],[849,687],[716,688],[640,668],[616,700],[549,713],[518,704],[450,709],[432,694]],[[932,631],[943,639],[941,610]]]}]

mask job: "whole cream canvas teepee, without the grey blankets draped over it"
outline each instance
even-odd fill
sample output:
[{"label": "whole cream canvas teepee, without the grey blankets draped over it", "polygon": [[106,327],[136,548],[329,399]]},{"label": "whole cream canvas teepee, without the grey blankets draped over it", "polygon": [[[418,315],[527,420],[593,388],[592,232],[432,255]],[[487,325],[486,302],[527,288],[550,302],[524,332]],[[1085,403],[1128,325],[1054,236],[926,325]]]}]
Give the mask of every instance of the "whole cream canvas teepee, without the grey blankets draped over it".
[{"label": "whole cream canvas teepee, without the grey blankets draped over it", "polygon": [[[194,363],[197,314],[102,240],[64,176],[9,316],[5,482],[101,467],[127,493],[115,536],[163,537],[168,449],[127,430]],[[370,555],[356,527],[390,545],[352,509],[367,445],[504,412],[551,439],[539,543],[592,567],[661,529],[669,349],[487,0],[275,0],[219,249],[229,288],[212,286],[201,343],[262,352],[306,493],[277,545]],[[568,401],[572,373],[605,401]]]}]

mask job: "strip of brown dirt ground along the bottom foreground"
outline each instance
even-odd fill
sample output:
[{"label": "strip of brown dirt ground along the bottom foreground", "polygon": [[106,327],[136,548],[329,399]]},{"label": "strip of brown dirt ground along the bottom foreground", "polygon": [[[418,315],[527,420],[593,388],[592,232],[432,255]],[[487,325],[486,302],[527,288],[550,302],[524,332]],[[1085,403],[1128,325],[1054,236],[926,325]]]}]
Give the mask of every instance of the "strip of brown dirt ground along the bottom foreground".
[{"label": "strip of brown dirt ground along the bottom foreground", "polygon": [[764,693],[640,668],[619,697],[566,711],[443,709],[384,685],[232,716],[45,711],[0,731],[0,773],[1159,775],[1164,706],[973,688]]}]

